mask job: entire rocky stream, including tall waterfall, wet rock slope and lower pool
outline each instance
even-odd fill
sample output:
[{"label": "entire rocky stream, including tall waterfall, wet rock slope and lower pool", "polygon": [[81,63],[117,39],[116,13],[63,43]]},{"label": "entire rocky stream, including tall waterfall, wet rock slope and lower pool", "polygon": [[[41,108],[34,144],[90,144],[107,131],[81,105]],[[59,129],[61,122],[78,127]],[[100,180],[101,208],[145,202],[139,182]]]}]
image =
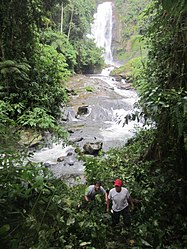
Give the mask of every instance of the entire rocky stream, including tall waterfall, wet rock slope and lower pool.
[{"label": "entire rocky stream, including tall waterfall, wet rock slope and lower pool", "polygon": [[67,82],[70,101],[62,108],[61,125],[69,131],[71,145],[64,141],[51,144],[49,134],[49,146],[32,157],[69,184],[75,183],[76,176],[84,181],[84,162],[77,159],[75,148],[90,156],[97,156],[100,151],[104,155],[133,136],[135,121],[124,123],[134,109],[137,94],[125,79],[110,76],[116,66],[112,55],[113,26],[112,2],[98,4],[88,36],[104,49],[105,63],[111,66],[97,75],[74,75]]}]

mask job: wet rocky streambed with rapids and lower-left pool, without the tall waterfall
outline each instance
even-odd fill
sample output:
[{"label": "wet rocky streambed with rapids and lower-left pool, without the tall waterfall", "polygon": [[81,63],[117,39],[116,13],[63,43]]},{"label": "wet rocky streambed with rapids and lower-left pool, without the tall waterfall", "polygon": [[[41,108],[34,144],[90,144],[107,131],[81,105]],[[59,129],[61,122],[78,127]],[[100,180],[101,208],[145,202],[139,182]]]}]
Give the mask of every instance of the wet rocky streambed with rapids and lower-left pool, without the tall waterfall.
[{"label": "wet rocky streambed with rapids and lower-left pool, without the tall waterfall", "polygon": [[69,131],[71,146],[55,144],[36,153],[35,161],[43,161],[58,178],[84,181],[84,163],[78,160],[75,148],[97,156],[124,145],[131,135],[122,124],[120,130],[119,123],[132,109],[135,92],[123,81],[110,78],[108,82],[108,77],[99,75],[74,75],[66,88],[69,102],[62,108],[61,125]]}]

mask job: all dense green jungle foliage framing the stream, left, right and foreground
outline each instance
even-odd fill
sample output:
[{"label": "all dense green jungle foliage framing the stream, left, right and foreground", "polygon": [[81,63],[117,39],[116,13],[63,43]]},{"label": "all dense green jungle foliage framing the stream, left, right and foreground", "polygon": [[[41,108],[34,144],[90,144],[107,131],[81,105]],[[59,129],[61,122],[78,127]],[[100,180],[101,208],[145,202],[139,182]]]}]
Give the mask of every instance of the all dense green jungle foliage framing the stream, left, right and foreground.
[{"label": "all dense green jungle foliage framing the stream, left, right and foreground", "polygon": [[147,55],[131,65],[130,77],[141,110],[132,118],[143,119],[144,128],[105,157],[80,154],[87,184],[99,179],[110,189],[115,178],[123,179],[135,204],[130,230],[111,227],[102,198],[96,207],[78,210],[86,185],[69,187],[54,178],[19,143],[23,128],[61,135],[60,106],[68,101],[64,82],[74,71],[103,65],[86,38],[95,7],[88,0],[0,3],[2,248],[187,248],[185,0],[154,0],[141,13]]}]

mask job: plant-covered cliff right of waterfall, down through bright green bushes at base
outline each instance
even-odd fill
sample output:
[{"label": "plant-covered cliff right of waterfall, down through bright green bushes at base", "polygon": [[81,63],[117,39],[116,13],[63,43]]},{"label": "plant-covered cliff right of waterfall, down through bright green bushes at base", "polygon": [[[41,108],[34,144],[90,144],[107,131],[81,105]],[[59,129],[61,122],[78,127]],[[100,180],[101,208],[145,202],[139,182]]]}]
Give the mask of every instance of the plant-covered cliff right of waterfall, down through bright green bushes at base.
[{"label": "plant-covered cliff right of waterfall, down through bright green bushes at base", "polygon": [[112,75],[125,76],[126,79],[133,81],[135,75],[140,73],[141,64],[148,52],[143,34],[146,32],[144,11],[150,2],[150,0],[115,1],[116,21],[112,46],[114,60],[119,61],[121,66],[115,68]]}]

